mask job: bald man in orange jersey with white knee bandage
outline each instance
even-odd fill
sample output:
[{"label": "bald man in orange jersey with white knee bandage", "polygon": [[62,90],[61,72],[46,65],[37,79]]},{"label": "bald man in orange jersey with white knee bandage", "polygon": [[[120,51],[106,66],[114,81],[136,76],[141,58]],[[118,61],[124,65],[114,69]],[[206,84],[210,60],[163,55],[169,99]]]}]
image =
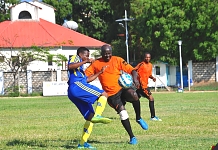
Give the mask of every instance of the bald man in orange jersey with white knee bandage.
[{"label": "bald man in orange jersey with white knee bandage", "polygon": [[126,102],[130,102],[136,113],[136,122],[141,125],[144,130],[148,129],[147,123],[141,118],[140,101],[134,89],[122,89],[118,83],[121,71],[132,74],[133,81],[139,86],[137,80],[137,72],[134,68],[120,57],[112,56],[112,48],[110,45],[101,47],[101,58],[94,61],[86,70],[87,76],[96,74],[103,66],[107,66],[105,71],[98,76],[102,88],[108,94],[108,104],[115,109],[120,115],[120,120],[129,134],[129,144],[137,144],[137,139],[132,132],[127,110],[125,109]]}]

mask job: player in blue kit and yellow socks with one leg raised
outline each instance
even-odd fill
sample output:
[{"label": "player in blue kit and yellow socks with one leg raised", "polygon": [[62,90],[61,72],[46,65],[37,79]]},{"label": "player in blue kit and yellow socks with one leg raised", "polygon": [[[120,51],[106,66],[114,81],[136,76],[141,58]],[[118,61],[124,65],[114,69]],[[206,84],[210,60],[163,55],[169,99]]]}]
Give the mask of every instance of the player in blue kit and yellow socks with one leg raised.
[{"label": "player in blue kit and yellow socks with one leg raised", "polygon": [[[110,123],[109,118],[102,117],[102,112],[107,103],[107,93],[100,90],[96,86],[89,84],[102,74],[105,66],[93,76],[87,77],[83,70],[83,64],[89,63],[89,50],[85,47],[77,49],[77,55],[72,56],[68,61],[68,98],[76,105],[80,113],[86,120],[83,128],[82,138],[78,144],[78,148],[94,149],[87,140],[92,132],[93,123]],[[97,101],[96,110],[93,110],[92,104]]]}]

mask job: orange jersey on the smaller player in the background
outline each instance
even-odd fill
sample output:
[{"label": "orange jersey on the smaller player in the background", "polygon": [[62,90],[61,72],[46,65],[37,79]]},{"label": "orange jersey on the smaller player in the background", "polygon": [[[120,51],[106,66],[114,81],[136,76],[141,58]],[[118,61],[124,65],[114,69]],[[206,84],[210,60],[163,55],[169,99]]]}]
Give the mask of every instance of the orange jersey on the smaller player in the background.
[{"label": "orange jersey on the smaller player in the background", "polygon": [[141,62],[136,67],[135,70],[138,73],[138,80],[142,86],[142,89],[148,87],[148,78],[152,75],[152,64]]}]

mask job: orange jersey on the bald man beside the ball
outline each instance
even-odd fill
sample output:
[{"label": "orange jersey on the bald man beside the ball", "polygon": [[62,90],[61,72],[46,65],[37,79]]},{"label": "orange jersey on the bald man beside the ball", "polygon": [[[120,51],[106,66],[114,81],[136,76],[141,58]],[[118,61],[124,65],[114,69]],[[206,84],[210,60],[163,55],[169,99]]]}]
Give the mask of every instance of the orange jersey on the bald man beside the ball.
[{"label": "orange jersey on the bald man beside the ball", "polygon": [[121,70],[129,74],[134,70],[134,68],[121,57],[112,56],[109,62],[105,62],[102,58],[97,59],[85,70],[85,74],[87,76],[93,75],[101,71],[103,66],[107,66],[107,68],[98,78],[103,90],[107,92],[108,96],[114,95],[121,90],[121,86],[118,83]]}]

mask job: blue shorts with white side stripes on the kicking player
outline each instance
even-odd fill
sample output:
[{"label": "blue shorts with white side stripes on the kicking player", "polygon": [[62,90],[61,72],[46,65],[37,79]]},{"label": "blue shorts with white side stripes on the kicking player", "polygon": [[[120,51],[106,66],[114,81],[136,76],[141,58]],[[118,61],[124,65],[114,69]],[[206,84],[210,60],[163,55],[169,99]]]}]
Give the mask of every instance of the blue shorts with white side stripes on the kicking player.
[{"label": "blue shorts with white side stripes on the kicking player", "polygon": [[77,81],[68,87],[68,98],[76,105],[80,113],[87,120],[90,113],[95,113],[92,104],[103,93],[94,85],[87,82]]}]

